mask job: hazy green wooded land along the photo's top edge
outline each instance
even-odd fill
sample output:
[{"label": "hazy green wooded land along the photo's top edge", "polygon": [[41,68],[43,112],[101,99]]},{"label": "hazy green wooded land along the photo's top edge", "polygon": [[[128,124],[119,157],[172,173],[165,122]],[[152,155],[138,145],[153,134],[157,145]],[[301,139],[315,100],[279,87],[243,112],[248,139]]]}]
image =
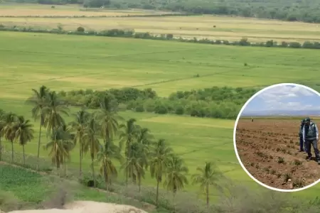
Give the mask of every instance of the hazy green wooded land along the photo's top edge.
[{"label": "hazy green wooded land along the photo's top edge", "polygon": [[40,4],[85,4],[117,9],[159,9],[189,13],[273,18],[320,23],[319,0],[4,0]]}]

